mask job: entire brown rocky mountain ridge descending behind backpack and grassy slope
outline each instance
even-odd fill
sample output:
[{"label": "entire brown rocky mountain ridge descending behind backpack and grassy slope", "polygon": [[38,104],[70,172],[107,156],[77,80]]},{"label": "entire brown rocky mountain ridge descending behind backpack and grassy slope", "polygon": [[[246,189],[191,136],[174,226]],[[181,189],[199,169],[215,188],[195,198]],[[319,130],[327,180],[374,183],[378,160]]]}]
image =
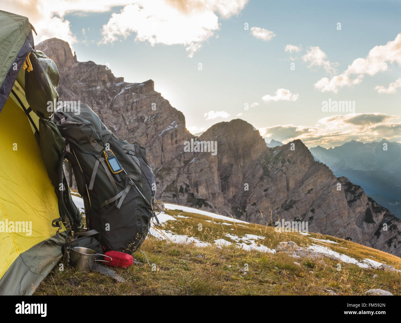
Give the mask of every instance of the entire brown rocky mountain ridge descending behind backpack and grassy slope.
[{"label": "entire brown rocky mountain ridge descending behind backpack and grassy slope", "polygon": [[[255,223],[308,221],[311,232],[400,254],[401,221],[314,160],[300,140],[269,148],[240,119],[196,137],[186,130],[184,115],[154,91],[152,80],[124,82],[104,65],[77,61],[59,39],[36,48],[59,68],[60,100],[87,103],[118,137],[147,148],[158,199]],[[208,142],[204,150],[217,142],[217,153],[186,151],[191,139],[195,145]]]}]

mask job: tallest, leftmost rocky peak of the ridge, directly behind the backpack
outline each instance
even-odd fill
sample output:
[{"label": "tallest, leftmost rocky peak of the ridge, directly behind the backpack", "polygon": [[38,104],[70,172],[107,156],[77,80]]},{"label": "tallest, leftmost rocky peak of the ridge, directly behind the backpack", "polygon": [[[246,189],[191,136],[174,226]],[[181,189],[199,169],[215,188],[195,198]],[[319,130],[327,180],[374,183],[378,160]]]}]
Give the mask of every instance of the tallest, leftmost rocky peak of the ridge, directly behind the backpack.
[{"label": "tallest, leftmost rocky peak of the ridge, directly behind the backpack", "polygon": [[114,134],[146,146],[155,168],[182,151],[183,141],[191,136],[184,115],[154,90],[152,80],[127,83],[105,65],[78,62],[61,39],[48,39],[35,48],[57,64],[60,100],[88,104]]}]

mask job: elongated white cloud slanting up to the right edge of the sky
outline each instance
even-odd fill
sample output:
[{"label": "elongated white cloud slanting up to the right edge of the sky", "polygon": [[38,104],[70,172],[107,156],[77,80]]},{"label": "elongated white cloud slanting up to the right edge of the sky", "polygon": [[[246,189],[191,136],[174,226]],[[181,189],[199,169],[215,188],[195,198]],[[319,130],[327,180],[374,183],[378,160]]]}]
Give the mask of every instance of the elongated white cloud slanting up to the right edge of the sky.
[{"label": "elongated white cloud slanting up to the right edge of the sky", "polygon": [[361,83],[365,74],[373,76],[386,71],[387,63],[397,63],[401,66],[401,33],[386,45],[373,47],[367,57],[355,59],[340,75],[331,79],[323,77],[314,84],[315,89],[337,93],[344,86],[350,87]]}]

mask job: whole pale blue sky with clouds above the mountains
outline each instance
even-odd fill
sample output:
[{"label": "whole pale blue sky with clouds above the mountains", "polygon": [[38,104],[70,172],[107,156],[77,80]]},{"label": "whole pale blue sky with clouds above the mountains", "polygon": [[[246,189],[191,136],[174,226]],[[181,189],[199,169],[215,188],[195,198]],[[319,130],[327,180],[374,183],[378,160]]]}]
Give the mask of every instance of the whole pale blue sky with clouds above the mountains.
[{"label": "whole pale blue sky with clouds above the mountains", "polygon": [[27,16],[36,43],[61,38],[79,61],[108,65],[127,82],[154,80],[193,134],[241,118],[267,142],[401,142],[401,1],[6,0],[0,8]]}]

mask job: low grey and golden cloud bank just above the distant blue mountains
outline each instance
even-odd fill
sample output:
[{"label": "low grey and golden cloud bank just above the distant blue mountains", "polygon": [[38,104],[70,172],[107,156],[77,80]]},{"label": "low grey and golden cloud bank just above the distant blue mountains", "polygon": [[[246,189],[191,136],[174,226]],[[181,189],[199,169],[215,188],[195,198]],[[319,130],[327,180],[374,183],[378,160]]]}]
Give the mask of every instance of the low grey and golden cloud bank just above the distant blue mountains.
[{"label": "low grey and golden cloud bank just above the distant blue mountains", "polygon": [[381,113],[348,114],[329,116],[318,121],[316,126],[295,126],[293,124],[259,128],[264,138],[274,138],[287,143],[300,139],[307,146],[338,146],[350,140],[380,141],[387,138],[401,141],[401,122],[391,122],[399,116]]}]

